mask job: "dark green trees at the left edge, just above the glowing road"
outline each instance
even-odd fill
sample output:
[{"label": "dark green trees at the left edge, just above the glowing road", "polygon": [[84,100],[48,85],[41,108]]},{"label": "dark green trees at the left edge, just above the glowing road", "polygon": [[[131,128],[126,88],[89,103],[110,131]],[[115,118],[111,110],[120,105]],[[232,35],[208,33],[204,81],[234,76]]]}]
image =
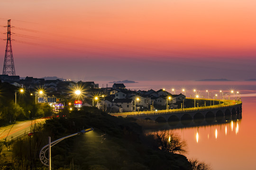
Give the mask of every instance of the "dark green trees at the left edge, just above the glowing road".
[{"label": "dark green trees at the left edge, just above the glowing road", "polygon": [[0,83],[0,127],[13,124],[17,120],[51,115],[51,107],[47,103],[36,104],[35,95],[30,95],[29,92],[19,93],[16,86]]}]

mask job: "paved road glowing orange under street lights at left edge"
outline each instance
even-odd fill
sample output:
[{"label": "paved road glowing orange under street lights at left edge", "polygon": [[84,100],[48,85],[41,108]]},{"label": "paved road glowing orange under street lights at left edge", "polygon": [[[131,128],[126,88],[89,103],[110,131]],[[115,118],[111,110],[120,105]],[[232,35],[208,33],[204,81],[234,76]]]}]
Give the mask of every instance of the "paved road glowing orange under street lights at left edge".
[{"label": "paved road glowing orange under street lights at left edge", "polygon": [[[45,119],[34,119],[16,122],[14,125],[9,125],[7,127],[0,127],[0,140],[7,137],[7,140],[13,136],[13,139],[27,135],[30,132],[30,127],[37,123],[45,123]],[[9,133],[9,135],[8,135]],[[8,136],[7,136],[8,135]]]}]

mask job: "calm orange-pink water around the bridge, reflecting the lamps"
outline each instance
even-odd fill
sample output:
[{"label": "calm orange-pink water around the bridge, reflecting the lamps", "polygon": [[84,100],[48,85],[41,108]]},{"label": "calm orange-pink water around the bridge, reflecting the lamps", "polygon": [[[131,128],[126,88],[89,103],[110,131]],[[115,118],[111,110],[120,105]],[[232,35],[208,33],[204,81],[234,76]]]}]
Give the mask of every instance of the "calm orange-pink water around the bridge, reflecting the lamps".
[{"label": "calm orange-pink water around the bridge, reflecting the lamps", "polygon": [[231,100],[234,97],[237,99],[239,95],[231,94],[230,91],[238,91],[243,102],[242,119],[174,130],[186,141],[188,147],[186,156],[189,159],[197,158],[209,163],[213,170],[256,170],[256,82],[148,81],[125,85],[128,89],[135,90],[165,88],[170,93],[174,88],[176,94],[181,93],[181,89],[185,88],[188,97],[193,96],[193,89],[196,89],[201,97],[207,98],[206,90],[208,90],[211,96],[218,94],[218,99],[222,95],[219,90],[222,90],[226,94],[225,97]]}]

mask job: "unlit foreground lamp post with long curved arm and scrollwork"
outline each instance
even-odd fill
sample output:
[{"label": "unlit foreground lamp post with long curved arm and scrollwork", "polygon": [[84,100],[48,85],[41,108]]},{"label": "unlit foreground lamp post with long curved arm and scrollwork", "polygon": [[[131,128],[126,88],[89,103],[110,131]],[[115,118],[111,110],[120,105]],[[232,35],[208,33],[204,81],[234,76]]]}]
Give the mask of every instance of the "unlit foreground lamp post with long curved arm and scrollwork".
[{"label": "unlit foreground lamp post with long curved arm and scrollwork", "polygon": [[[69,136],[65,136],[65,137],[62,137],[60,139],[57,139],[53,142],[51,142],[51,137],[48,136],[48,144],[46,144],[44,147],[42,147],[41,151],[40,151],[40,154],[39,154],[39,159],[40,161],[49,167],[49,170],[52,169],[51,167],[51,147],[54,146],[55,144],[59,143],[60,141],[68,138],[68,137],[72,137],[72,136],[76,136],[76,135],[80,135],[80,134],[84,134],[84,133],[87,133],[87,132],[91,132],[93,131],[94,129],[91,127],[89,129],[85,129],[85,130],[81,130],[80,132],[77,132],[77,133],[74,133],[72,135],[69,135]],[[48,158],[46,157],[46,151],[48,150]]]}]

